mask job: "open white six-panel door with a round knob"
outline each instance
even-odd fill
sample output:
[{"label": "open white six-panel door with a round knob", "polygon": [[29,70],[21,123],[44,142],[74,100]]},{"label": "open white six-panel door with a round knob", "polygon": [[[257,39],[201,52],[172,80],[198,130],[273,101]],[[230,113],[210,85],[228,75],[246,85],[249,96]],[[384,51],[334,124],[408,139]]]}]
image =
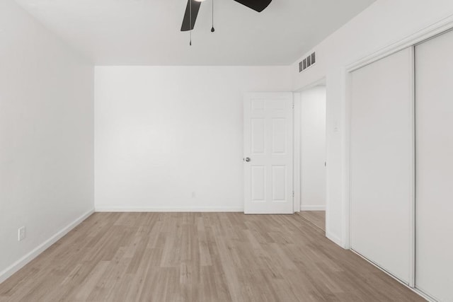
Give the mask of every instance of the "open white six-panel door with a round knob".
[{"label": "open white six-panel door with a round knob", "polygon": [[247,93],[243,108],[244,212],[293,214],[293,94]]}]

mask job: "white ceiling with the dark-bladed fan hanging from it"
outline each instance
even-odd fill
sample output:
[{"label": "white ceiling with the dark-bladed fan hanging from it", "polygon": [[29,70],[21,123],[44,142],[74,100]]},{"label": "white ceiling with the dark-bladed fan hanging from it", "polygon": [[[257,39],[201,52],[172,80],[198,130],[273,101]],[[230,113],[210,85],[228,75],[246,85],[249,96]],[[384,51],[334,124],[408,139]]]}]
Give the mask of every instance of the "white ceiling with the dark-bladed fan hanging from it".
[{"label": "white ceiling with the dark-bladed fan hanging from it", "polygon": [[288,65],[374,0],[273,0],[263,12],[202,3],[189,46],[187,0],[16,0],[98,65]]}]

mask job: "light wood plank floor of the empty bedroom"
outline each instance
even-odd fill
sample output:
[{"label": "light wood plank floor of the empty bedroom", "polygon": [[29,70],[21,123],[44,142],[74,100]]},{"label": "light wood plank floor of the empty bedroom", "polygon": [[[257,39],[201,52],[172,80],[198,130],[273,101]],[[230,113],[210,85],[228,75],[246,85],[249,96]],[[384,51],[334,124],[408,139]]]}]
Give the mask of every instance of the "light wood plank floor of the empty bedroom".
[{"label": "light wood plank floor of the empty bedroom", "polygon": [[299,215],[96,213],[0,301],[423,301]]}]

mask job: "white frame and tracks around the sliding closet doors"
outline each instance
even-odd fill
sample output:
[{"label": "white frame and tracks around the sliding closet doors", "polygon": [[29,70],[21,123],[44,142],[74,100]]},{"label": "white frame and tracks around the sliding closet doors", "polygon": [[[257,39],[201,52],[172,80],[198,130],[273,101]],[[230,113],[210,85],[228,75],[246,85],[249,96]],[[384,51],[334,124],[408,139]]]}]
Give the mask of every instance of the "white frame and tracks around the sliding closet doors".
[{"label": "white frame and tracks around the sliding closet doors", "polygon": [[[427,28],[424,28],[423,30],[418,31],[417,33],[414,33],[413,35],[410,35],[408,37],[405,37],[398,42],[395,42],[391,45],[388,45],[381,50],[378,50],[377,52],[374,52],[373,54],[370,54],[369,56],[360,59],[357,62],[354,62],[348,66],[345,67],[345,110],[343,111],[343,128],[344,128],[344,142],[345,144],[343,145],[343,167],[344,167],[344,179],[345,179],[345,186],[343,188],[344,192],[344,207],[343,207],[343,248],[346,249],[351,249],[351,241],[350,241],[350,233],[351,233],[351,226],[350,226],[350,221],[351,221],[351,196],[350,196],[350,188],[351,188],[351,178],[350,178],[350,121],[351,121],[351,115],[350,115],[350,110],[351,110],[351,93],[352,93],[352,83],[351,83],[351,74],[352,71],[356,71],[357,69],[360,69],[364,66],[367,66],[368,64],[372,64],[374,62],[379,61],[380,59],[384,59],[385,57],[390,56],[391,54],[395,54],[396,52],[399,52],[401,50],[404,50],[406,48],[411,48],[411,53],[412,53],[412,70],[411,70],[411,75],[412,75],[412,87],[411,87],[411,94],[412,94],[412,101],[411,101],[411,116],[413,117],[413,122],[412,122],[412,134],[411,134],[411,144],[413,146],[413,149],[411,153],[408,154],[408,156],[411,157],[411,162],[413,163],[411,173],[412,173],[412,178],[411,178],[411,192],[412,192],[412,202],[411,202],[411,247],[410,247],[410,255],[408,255],[408,258],[411,261],[411,271],[410,271],[410,278],[409,278],[409,284],[403,283],[401,280],[397,279],[394,277],[392,274],[389,272],[386,272],[382,267],[377,266],[374,262],[371,262],[367,260],[369,263],[372,265],[378,267],[379,269],[382,269],[386,274],[389,274],[392,278],[396,279],[398,282],[403,284],[404,286],[408,286],[409,289],[415,291],[417,294],[420,294],[420,296],[423,296],[426,298],[428,301],[432,301],[432,298],[429,296],[426,296],[423,292],[419,291],[418,289],[415,289],[415,45],[418,45],[420,43],[423,43],[427,40],[430,40],[437,35],[442,35],[443,33],[447,33],[448,31],[453,30],[453,16],[450,16],[449,18],[445,18],[442,21],[435,23],[433,25],[428,26]],[[354,250],[352,250],[354,252]],[[357,254],[359,255],[359,254]],[[362,257],[362,255],[360,255]]]}]

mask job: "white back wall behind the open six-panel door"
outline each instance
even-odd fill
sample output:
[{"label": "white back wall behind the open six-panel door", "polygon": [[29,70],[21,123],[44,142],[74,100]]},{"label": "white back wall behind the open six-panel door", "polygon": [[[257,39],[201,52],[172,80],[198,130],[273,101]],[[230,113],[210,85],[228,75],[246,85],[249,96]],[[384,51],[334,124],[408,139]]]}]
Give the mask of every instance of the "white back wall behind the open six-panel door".
[{"label": "white back wall behind the open six-panel door", "polygon": [[289,67],[98,66],[95,78],[97,210],[243,210],[243,93],[290,91]]}]

